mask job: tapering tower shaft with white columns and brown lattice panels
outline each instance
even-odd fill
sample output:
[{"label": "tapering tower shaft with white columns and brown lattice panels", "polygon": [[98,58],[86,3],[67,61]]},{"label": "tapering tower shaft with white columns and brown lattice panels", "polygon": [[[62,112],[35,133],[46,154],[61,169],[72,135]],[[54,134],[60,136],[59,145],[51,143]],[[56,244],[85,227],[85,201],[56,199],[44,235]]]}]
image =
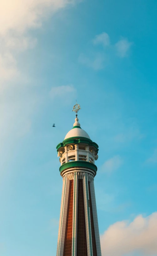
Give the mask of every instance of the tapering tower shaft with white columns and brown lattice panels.
[{"label": "tapering tower shaft with white columns and brown lattice panels", "polygon": [[57,256],[101,256],[99,228],[90,170],[63,176]]}]

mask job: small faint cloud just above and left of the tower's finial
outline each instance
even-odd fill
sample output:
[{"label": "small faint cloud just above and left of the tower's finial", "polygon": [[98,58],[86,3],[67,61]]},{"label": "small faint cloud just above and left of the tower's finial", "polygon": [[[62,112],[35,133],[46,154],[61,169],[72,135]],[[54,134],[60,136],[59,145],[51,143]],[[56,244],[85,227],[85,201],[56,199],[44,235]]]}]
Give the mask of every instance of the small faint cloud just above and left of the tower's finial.
[{"label": "small faint cloud just above and left of the tower's finial", "polygon": [[65,94],[72,96],[76,92],[76,89],[74,88],[73,85],[62,85],[62,86],[57,86],[57,87],[52,87],[50,90],[50,97],[55,99],[59,97],[64,97]]}]

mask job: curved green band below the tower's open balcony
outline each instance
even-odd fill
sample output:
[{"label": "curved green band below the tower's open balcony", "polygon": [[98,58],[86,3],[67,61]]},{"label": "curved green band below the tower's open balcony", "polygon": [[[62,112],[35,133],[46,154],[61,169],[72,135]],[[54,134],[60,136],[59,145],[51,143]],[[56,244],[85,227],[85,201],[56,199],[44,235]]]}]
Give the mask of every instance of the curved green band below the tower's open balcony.
[{"label": "curved green band below the tower's open balcony", "polygon": [[74,168],[74,167],[88,168],[88,169],[91,169],[91,170],[97,172],[97,166],[90,162],[86,162],[86,161],[71,161],[71,162],[65,163],[60,166],[59,171],[63,172],[66,169]]}]

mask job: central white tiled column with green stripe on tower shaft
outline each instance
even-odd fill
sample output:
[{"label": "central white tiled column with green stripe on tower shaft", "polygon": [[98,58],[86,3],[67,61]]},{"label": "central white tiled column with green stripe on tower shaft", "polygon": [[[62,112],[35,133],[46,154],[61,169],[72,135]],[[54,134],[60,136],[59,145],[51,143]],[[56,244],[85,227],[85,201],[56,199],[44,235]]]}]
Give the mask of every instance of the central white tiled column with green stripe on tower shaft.
[{"label": "central white tiled column with green stripe on tower shaft", "polygon": [[78,173],[73,173],[73,230],[72,256],[77,256],[77,207],[78,207]]}]

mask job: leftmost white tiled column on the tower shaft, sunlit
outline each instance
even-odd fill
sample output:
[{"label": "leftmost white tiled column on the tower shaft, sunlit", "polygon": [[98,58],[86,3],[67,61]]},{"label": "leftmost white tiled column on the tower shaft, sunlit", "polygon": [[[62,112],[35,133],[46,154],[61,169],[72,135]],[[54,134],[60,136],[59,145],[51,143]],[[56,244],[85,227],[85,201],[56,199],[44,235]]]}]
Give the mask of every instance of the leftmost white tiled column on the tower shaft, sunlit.
[{"label": "leftmost white tiled column on the tower shaft, sunlit", "polygon": [[66,228],[67,209],[68,209],[69,183],[70,183],[69,179],[67,177],[63,177],[57,256],[63,256],[63,250],[64,250],[65,228]]}]

